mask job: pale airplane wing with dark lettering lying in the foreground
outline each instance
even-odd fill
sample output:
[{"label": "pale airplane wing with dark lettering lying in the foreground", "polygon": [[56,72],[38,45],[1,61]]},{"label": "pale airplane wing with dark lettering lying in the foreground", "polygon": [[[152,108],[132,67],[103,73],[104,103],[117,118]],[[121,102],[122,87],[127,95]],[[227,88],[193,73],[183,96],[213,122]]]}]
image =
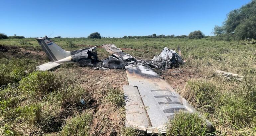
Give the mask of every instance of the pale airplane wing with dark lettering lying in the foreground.
[{"label": "pale airplane wing with dark lettering lying in the foreground", "polygon": [[[141,64],[126,66],[129,85],[124,86],[126,127],[147,133],[165,133],[176,112],[196,110],[153,69]],[[201,115],[199,115],[201,116]],[[211,123],[206,120],[207,127]]]}]

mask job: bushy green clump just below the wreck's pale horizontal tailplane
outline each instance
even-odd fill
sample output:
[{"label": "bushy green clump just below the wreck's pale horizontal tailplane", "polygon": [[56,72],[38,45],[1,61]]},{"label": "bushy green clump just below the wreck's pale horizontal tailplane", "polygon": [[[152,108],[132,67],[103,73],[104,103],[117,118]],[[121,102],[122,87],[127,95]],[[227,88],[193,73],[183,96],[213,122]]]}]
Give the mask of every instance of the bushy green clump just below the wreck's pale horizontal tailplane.
[{"label": "bushy green clump just below the wreck's pale horizontal tailplane", "polygon": [[27,96],[38,99],[53,91],[64,89],[66,81],[61,75],[49,71],[35,71],[19,82],[19,89]]}]

